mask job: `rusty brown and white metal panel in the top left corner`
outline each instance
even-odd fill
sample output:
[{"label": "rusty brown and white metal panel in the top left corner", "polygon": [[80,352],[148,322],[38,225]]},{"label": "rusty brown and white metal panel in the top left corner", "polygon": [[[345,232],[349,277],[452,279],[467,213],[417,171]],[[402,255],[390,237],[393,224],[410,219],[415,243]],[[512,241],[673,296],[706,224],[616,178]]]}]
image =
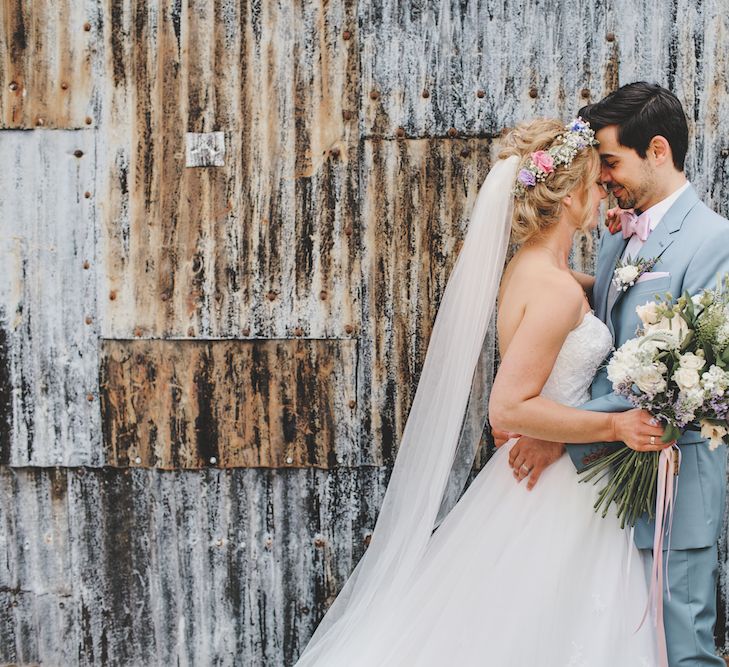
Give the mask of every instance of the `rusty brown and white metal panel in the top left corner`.
[{"label": "rusty brown and white metal panel in the top left corner", "polygon": [[97,3],[0,3],[0,128],[95,123]]}]

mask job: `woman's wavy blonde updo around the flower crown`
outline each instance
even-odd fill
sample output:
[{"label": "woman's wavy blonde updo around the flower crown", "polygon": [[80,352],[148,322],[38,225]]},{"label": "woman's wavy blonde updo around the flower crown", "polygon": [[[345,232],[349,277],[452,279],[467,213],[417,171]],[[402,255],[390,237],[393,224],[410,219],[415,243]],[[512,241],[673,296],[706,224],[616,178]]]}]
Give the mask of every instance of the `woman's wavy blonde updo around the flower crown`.
[{"label": "woman's wavy blonde updo around the flower crown", "polygon": [[[518,125],[505,137],[504,149],[499,153],[499,158],[519,156],[521,180],[522,174],[529,172],[529,167],[534,165],[534,153],[542,151],[547,154],[550,148],[559,146],[565,132],[564,123],[558,120],[542,119]],[[579,201],[585,202],[579,230],[588,233],[595,210],[595,202],[590,201],[588,193],[590,185],[599,175],[600,158],[589,144],[579,148],[569,164],[555,164],[546,177],[533,179],[533,185],[527,173],[527,186],[515,184],[512,241],[521,245],[549,229],[559,219],[562,199],[567,195],[576,195]]]}]

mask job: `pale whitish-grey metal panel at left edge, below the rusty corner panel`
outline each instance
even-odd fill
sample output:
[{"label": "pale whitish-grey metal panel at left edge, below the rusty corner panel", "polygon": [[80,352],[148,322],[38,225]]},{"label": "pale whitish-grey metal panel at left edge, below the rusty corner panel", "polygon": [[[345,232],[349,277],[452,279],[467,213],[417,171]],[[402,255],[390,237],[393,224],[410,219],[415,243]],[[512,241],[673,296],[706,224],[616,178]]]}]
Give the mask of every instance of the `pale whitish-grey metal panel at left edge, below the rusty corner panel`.
[{"label": "pale whitish-grey metal panel at left edge, below the rusty corner panel", "polygon": [[92,132],[0,132],[4,463],[102,461],[93,155]]}]

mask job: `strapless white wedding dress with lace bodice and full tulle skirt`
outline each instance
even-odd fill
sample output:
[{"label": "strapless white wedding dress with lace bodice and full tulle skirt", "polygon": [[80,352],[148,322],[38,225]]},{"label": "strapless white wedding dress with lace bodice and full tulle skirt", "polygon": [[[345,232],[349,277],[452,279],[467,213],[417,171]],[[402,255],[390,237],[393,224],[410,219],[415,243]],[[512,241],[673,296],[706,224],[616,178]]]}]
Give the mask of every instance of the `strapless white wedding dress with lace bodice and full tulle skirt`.
[{"label": "strapless white wedding dress with lace bodice and full tulle skirt", "polygon": [[[589,398],[612,346],[592,313],[567,336],[543,394]],[[564,454],[532,491],[501,447],[430,539],[407,593],[311,664],[326,667],[646,667],[656,664],[641,556]]]}]

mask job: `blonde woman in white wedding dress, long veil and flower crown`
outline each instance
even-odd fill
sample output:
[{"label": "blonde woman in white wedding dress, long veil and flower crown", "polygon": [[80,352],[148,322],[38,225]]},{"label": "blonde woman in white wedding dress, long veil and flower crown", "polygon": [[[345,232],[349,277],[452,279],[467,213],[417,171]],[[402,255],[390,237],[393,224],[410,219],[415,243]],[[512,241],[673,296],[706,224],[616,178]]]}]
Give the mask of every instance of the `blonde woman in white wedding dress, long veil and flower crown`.
[{"label": "blonde woman in white wedding dress, long veil and flower crown", "polygon": [[[509,441],[449,502],[485,419],[473,380],[497,295],[494,426],[642,450],[663,434],[640,410],[575,407],[612,349],[567,265],[606,196],[594,144],[579,119],[508,137],[441,302],[369,549],[300,667],[656,664],[640,555],[616,517],[594,513],[596,487],[578,484],[567,455],[527,491],[514,483]],[[510,238],[520,248],[502,276]]]}]

